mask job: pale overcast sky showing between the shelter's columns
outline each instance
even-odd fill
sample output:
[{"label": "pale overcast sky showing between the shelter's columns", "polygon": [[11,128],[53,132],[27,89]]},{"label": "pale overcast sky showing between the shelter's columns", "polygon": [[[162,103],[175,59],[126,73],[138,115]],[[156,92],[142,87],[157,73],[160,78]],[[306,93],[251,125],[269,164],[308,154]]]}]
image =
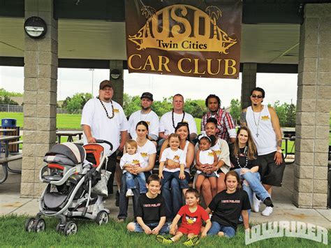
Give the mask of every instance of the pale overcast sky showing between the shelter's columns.
[{"label": "pale overcast sky showing between the shelter's columns", "polygon": [[[57,99],[64,100],[75,93],[92,93],[92,73],[94,96],[98,94],[98,85],[109,78],[109,70],[59,68]],[[297,101],[297,74],[258,73],[256,85],[265,89],[265,103],[274,101],[290,103]],[[170,75],[128,73],[124,71],[124,92],[141,95],[142,92],[154,94],[154,100],[174,94],[182,94],[185,99],[205,99],[209,94],[221,98],[222,105],[230,105],[231,99],[240,99],[240,79],[189,78]],[[0,66],[0,87],[8,92],[24,91],[23,67]]]}]

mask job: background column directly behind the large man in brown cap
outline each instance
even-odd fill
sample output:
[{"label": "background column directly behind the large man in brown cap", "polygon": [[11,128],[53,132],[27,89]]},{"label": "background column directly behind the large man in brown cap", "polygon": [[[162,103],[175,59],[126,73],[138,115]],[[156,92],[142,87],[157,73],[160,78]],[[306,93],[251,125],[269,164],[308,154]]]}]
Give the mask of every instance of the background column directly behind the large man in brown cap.
[{"label": "background column directly behind the large man in brown cap", "polygon": [[123,106],[123,94],[124,94],[124,70],[123,70],[123,61],[122,60],[110,60],[110,71],[113,69],[119,70],[121,76],[119,79],[112,79],[110,77],[110,81],[114,86],[114,96],[112,96],[112,100],[116,101],[120,105]]}]

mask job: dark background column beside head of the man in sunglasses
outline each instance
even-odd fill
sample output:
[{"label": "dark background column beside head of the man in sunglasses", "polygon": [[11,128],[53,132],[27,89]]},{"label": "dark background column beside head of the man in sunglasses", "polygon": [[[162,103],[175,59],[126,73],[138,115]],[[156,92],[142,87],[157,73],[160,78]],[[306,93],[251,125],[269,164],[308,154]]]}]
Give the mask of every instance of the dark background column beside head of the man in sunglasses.
[{"label": "dark background column beside head of the man in sunglasses", "polygon": [[251,89],[256,87],[256,63],[244,63],[242,68],[242,108],[247,108],[251,105]]}]

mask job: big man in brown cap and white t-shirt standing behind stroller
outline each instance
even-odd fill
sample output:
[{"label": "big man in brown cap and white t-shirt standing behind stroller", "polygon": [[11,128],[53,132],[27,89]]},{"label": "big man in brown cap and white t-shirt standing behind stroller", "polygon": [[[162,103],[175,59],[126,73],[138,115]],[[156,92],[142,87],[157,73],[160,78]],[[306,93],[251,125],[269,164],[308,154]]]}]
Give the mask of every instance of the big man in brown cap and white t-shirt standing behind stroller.
[{"label": "big man in brown cap and white t-shirt standing behind stroller", "polygon": [[[96,140],[107,140],[113,145],[103,143],[105,152],[108,152],[107,170],[112,174],[108,180],[108,194],[112,194],[112,183],[116,168],[116,151],[122,152],[128,133],[128,121],[123,108],[119,103],[112,101],[114,89],[110,80],[103,80],[99,86],[99,95],[89,99],[82,110],[80,124],[84,131],[84,145],[96,143]],[[96,206],[101,205],[102,198],[98,198]],[[97,211],[97,209],[96,209]]]}]

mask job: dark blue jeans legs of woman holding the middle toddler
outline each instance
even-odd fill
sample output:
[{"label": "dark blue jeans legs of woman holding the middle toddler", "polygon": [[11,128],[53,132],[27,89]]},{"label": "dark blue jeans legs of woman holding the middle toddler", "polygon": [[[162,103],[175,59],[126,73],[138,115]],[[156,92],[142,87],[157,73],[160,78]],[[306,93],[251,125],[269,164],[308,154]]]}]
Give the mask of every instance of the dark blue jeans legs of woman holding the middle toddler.
[{"label": "dark blue jeans legs of woman holding the middle toddler", "polygon": [[165,183],[161,184],[162,196],[167,210],[167,219],[172,220],[175,218],[177,212],[183,204],[182,190],[179,187],[177,179],[172,178]]}]

